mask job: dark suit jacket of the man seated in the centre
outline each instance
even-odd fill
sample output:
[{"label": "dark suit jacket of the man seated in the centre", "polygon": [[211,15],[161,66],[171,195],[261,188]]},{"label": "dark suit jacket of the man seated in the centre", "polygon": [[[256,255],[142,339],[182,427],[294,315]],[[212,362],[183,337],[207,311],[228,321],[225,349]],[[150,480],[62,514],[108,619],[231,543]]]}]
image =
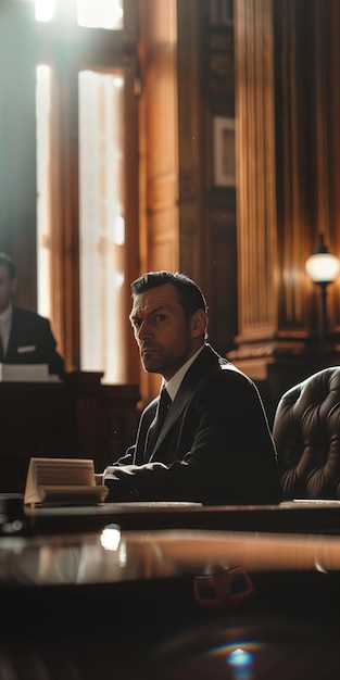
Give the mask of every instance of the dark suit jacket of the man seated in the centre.
[{"label": "dark suit jacket of the man seated in the centre", "polygon": [[106,468],[108,501],[281,501],[276,451],[259,391],[209,344],[188,369],[146,459],[156,405],[158,398],[143,411],[135,446]]}]

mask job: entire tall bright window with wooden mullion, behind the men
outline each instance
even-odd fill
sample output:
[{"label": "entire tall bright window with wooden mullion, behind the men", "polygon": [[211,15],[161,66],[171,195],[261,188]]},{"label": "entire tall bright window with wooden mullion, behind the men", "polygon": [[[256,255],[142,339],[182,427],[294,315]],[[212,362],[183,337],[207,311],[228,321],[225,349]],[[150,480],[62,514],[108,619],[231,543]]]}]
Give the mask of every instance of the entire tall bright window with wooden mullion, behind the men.
[{"label": "entire tall bright window with wooden mullion, behind the men", "polygon": [[[35,7],[40,24],[53,27],[55,21],[59,40],[58,49],[52,39],[48,50],[45,40],[37,66],[38,310],[52,318],[60,315],[66,356],[68,338],[74,344],[77,335],[67,332],[67,324],[74,328],[76,317],[78,350],[73,347],[73,363],[78,353],[81,370],[103,372],[104,382],[124,382],[126,287],[130,279],[126,270],[125,125],[133,80],[124,41],[118,37],[124,29],[123,0],[36,0]],[[74,43],[72,32],[65,34],[68,24]],[[89,28],[92,39],[88,39]],[[115,37],[108,40],[112,30],[119,49]],[[64,35],[63,51],[60,41]],[[130,54],[129,63],[134,60]],[[129,197],[135,189],[137,186],[128,187]],[[74,267],[78,282],[67,291],[67,276],[74,281]],[[59,278],[64,303],[55,295]]]}]

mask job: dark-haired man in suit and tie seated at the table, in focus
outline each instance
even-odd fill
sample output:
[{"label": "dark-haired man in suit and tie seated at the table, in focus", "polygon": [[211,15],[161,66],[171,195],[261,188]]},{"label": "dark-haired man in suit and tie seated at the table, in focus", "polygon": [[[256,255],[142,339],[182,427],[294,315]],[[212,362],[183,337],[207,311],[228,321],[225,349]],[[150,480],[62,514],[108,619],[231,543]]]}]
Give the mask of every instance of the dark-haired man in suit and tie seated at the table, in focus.
[{"label": "dark-haired man in suit and tie seated at the table, in focus", "polygon": [[[131,284],[130,322],[143,368],[171,396],[148,448],[159,398],[143,411],[136,444],[97,476],[108,501],[270,504],[281,500],[276,452],[255,385],[206,343],[200,288],[169,272]],[[151,430],[153,429],[153,426]]]}]

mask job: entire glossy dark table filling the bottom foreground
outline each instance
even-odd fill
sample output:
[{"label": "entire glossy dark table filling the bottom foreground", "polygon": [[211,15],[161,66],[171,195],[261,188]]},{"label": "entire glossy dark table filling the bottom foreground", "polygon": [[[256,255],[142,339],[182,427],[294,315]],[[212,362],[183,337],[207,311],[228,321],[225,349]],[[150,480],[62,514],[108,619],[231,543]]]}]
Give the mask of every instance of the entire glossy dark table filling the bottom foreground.
[{"label": "entire glossy dark table filling the bottom foreground", "polygon": [[337,680],[339,517],[332,502],[2,513],[0,678]]}]

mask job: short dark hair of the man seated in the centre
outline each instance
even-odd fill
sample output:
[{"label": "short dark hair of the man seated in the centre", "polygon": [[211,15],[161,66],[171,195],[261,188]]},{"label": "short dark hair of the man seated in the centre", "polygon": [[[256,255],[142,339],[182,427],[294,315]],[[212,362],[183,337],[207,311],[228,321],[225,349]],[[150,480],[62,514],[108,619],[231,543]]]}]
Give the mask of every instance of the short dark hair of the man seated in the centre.
[{"label": "short dark hair of the man seated in the centre", "polygon": [[206,301],[200,287],[191,278],[178,272],[148,272],[133,281],[130,289],[133,295],[139,295],[152,288],[165,286],[165,284],[171,284],[176,289],[178,302],[181,304],[187,319],[198,310],[207,312]]}]

